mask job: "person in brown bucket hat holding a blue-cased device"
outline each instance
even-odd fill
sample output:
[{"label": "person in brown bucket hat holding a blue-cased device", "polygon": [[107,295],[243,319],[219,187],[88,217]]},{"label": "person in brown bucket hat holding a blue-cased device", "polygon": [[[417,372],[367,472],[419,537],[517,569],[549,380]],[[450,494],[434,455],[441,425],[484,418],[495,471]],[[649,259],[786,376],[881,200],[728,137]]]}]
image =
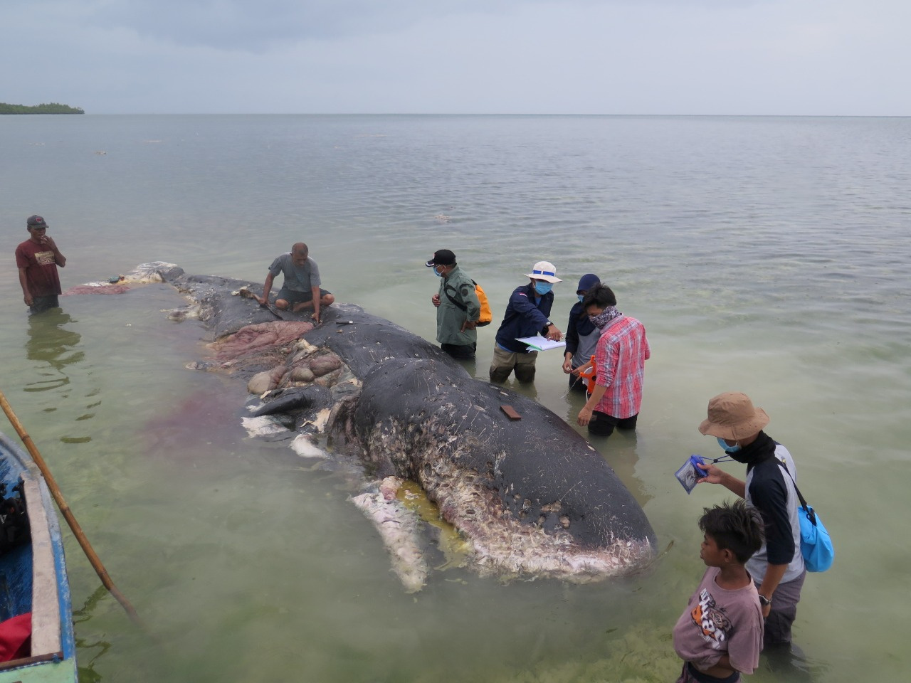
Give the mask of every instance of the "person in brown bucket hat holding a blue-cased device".
[{"label": "person in brown bucket hat holding a blue-cased device", "polygon": [[769,416],[762,408],[754,408],[745,393],[725,392],[711,399],[708,417],[699,425],[701,433],[714,436],[725,453],[746,465],[743,481],[714,464],[705,464],[708,475],[700,483],[722,484],[763,515],[765,544],[746,568],[763,605],[764,649],[790,645],[806,576],[800,552],[796,471],[788,450],[763,432],[768,423]]}]

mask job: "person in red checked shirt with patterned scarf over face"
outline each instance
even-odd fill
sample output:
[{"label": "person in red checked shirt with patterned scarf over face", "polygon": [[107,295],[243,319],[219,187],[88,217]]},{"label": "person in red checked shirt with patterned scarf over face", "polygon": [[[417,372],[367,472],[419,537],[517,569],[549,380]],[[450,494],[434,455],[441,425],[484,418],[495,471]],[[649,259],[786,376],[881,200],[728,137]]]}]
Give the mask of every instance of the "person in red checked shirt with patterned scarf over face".
[{"label": "person in red checked shirt with patterned scarf over face", "polygon": [[[617,297],[604,285],[582,300],[589,320],[600,331],[595,351],[595,388],[578,412],[589,433],[609,436],[618,429],[636,429],[642,404],[642,376],[651,357],[645,327],[617,310]],[[585,365],[574,370],[584,370]]]}]

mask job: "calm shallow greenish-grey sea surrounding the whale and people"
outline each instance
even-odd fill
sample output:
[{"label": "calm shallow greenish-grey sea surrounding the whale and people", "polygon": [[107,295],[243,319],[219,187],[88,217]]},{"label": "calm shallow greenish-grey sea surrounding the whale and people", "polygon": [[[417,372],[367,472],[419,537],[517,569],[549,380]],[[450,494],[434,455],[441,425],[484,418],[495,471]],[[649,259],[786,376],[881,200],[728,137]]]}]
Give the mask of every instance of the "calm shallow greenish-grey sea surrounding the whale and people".
[{"label": "calm shallow greenish-grey sea surrounding the whale and people", "polygon": [[[0,159],[0,389],[155,635],[67,531],[82,681],[673,680],[670,629],[703,571],[696,520],[731,495],[687,495],[673,473],[721,454],[696,426],[729,390],[770,414],[837,552],[804,587],[806,671],[763,661],[752,680],[911,671],[911,119],[7,116]],[[150,260],[261,281],[303,240],[339,301],[431,341],[423,263],[454,250],[494,309],[479,378],[532,263],[564,279],[561,329],[578,278],[599,274],[652,358],[638,432],[596,446],[660,560],[589,586],[441,568],[405,595],[348,501],[358,482],[247,438],[241,382],[184,369],[206,350],[197,323],[162,312],[174,291],[26,315],[13,252],[33,213],[67,256],[65,289]],[[525,391],[574,422],[550,353]]]}]

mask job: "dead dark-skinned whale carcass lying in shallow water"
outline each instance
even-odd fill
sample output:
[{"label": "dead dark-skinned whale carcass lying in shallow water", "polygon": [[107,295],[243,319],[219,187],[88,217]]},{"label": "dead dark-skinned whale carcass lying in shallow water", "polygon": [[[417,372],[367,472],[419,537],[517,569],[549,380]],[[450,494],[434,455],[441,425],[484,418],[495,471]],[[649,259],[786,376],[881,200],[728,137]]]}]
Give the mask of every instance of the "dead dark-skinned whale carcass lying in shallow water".
[{"label": "dead dark-skinned whale carcass lying in shallow water", "polygon": [[[231,296],[254,283],[179,269],[163,277],[212,331],[216,360],[195,367],[246,380],[261,395],[255,419],[308,434],[297,441],[302,450],[328,437],[335,450],[361,458],[374,497],[357,505],[374,524],[384,520],[378,528],[394,556],[419,554],[408,510],[375,497],[376,482],[393,475],[422,486],[465,538],[467,566],[484,576],[584,582],[629,574],[653,558],[655,536],[640,505],[600,454],[543,406],[471,378],[434,345],[357,307],[334,305],[314,328]],[[525,419],[510,421],[498,410],[504,403]],[[386,524],[391,518],[401,520],[398,537],[382,529],[395,526]],[[397,573],[411,590],[426,576],[421,566]]]}]

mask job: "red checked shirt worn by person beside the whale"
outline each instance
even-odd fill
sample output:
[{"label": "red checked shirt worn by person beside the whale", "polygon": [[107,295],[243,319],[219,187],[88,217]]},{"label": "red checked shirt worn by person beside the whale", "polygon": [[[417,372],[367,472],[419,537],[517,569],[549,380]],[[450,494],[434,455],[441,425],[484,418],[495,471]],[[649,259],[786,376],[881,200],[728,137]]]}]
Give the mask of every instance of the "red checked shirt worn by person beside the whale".
[{"label": "red checked shirt worn by person beside the whale", "polygon": [[595,383],[607,387],[595,410],[620,420],[638,414],[642,376],[650,357],[649,340],[640,321],[625,315],[610,321],[595,351]]}]

